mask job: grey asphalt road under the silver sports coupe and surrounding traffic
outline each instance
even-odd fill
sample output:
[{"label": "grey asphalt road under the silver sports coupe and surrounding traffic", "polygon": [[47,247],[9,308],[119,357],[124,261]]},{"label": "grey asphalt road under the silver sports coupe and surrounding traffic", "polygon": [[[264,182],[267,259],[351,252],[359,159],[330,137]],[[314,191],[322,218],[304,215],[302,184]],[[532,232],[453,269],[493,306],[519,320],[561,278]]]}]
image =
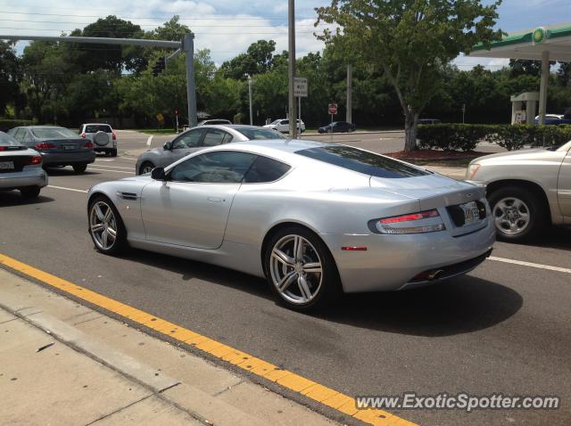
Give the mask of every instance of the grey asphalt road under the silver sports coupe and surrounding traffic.
[{"label": "grey asphalt road under the silver sports coupe and surrounding traffic", "polygon": [[[393,151],[402,146],[397,136],[386,135]],[[277,306],[267,284],[246,274],[141,250],[104,256],[87,235],[83,191],[133,176],[135,157],[124,152],[144,149],[146,137],[120,132],[120,157],[98,158],[85,175],[51,171],[38,201],[0,193],[0,252],[348,395],[562,398],[550,411],[392,411],[414,422],[571,423],[571,274],[486,260],[451,283],[347,295],[325,313],[302,315]],[[383,150],[380,137],[355,143]],[[530,245],[498,242],[493,256],[569,269],[570,250],[571,231],[558,229]]]}]

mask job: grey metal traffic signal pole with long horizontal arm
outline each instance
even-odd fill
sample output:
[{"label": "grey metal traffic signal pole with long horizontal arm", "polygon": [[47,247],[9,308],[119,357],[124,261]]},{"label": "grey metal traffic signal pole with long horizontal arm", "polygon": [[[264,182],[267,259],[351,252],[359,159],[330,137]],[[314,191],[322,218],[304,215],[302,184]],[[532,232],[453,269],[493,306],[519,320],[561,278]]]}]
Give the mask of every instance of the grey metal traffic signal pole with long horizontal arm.
[{"label": "grey metal traffic signal pole with long horizontal arm", "polygon": [[197,124],[196,86],[194,82],[194,34],[186,34],[181,42],[170,40],[146,40],[142,38],[109,38],[109,37],[52,37],[52,36],[16,36],[0,35],[0,40],[42,40],[59,43],[87,43],[93,45],[140,45],[145,47],[161,47],[166,49],[182,49],[186,53],[186,100],[188,102],[188,124]]}]

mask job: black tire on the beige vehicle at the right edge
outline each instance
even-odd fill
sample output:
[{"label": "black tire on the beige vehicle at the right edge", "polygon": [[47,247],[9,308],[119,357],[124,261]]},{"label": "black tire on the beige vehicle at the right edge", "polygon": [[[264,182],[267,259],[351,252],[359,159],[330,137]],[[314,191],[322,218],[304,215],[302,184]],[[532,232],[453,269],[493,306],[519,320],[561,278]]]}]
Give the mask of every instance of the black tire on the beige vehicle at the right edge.
[{"label": "black tire on the beige vehicle at the right edge", "polygon": [[[523,202],[523,205],[519,204],[519,209],[517,209],[515,200]],[[496,225],[497,237],[501,241],[525,242],[532,240],[541,233],[547,223],[547,206],[545,206],[544,201],[538,194],[526,188],[518,186],[498,188],[488,194],[488,201],[492,209],[492,219]],[[505,209],[502,209],[502,206],[506,205],[509,206],[512,216],[510,220],[504,221],[502,225],[499,225],[497,219],[499,217],[507,217],[504,213]],[[523,226],[525,214],[527,214],[528,220],[526,220],[527,225]],[[517,218],[518,215],[523,216]],[[508,229],[510,224],[521,227],[521,231]]]}]

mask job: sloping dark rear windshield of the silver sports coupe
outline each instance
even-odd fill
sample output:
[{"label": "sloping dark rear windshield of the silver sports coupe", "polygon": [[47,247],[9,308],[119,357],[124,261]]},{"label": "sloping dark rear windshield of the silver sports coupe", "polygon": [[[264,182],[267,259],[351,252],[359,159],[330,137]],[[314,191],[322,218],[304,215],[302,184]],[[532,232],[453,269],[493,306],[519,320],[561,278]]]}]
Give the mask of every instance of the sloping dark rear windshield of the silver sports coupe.
[{"label": "sloping dark rear windshield of the silver sports coupe", "polygon": [[369,176],[397,178],[428,175],[427,172],[407,166],[400,161],[351,146],[324,146],[295,153]]}]

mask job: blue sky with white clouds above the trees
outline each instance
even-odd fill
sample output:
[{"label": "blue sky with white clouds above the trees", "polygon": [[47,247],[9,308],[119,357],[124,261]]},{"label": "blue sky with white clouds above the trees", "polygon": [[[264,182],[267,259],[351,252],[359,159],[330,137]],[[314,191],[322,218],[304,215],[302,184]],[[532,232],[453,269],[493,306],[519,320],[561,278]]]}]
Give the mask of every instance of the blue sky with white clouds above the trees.
[{"label": "blue sky with white clouds above the trees", "polygon": [[[313,26],[314,9],[327,4],[327,0],[296,2],[297,56],[323,49],[313,35],[319,31]],[[571,21],[571,0],[504,0],[499,13],[498,28],[506,32],[534,29]],[[145,30],[178,14],[194,31],[195,48],[210,49],[217,64],[245,52],[261,38],[275,40],[277,52],[287,49],[287,0],[0,0],[0,35],[60,36],[110,14]],[[24,45],[18,44],[20,52]],[[460,56],[454,63],[461,70],[476,64],[494,70],[507,60]]]}]

